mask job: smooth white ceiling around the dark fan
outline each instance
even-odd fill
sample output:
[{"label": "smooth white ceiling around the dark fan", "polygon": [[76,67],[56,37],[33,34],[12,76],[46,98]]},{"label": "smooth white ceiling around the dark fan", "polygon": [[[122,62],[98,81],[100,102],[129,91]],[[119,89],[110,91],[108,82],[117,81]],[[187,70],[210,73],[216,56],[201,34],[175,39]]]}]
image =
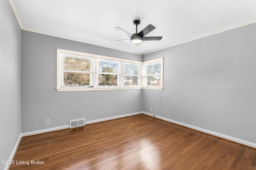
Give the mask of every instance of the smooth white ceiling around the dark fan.
[{"label": "smooth white ceiling around the dark fan", "polygon": [[[256,23],[256,0],[9,0],[21,29],[146,54]],[[163,36],[140,46],[116,31],[133,34],[148,24],[146,36]]]}]

